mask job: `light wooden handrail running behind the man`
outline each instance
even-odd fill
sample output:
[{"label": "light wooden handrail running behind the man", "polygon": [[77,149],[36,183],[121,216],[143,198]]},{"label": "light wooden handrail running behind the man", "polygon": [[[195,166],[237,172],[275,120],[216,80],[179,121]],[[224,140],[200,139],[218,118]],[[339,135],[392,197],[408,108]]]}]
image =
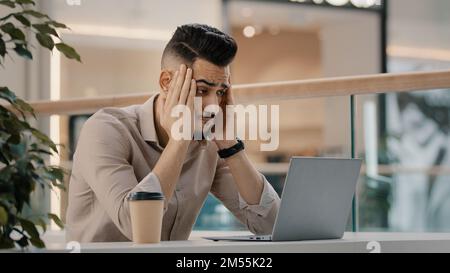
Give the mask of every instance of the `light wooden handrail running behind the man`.
[{"label": "light wooden handrail running behind the man", "polygon": [[[450,70],[234,85],[237,103],[450,88]],[[145,102],[152,94],[30,102],[37,114],[92,113]]]}]

